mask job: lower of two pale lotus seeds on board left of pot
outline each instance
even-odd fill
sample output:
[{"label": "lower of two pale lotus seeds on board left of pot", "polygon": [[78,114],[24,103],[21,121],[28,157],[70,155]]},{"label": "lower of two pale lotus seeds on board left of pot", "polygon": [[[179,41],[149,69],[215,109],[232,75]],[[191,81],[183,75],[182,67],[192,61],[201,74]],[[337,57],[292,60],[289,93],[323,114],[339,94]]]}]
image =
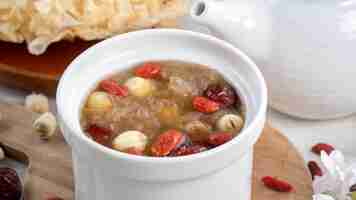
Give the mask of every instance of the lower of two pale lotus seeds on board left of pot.
[{"label": "lower of two pale lotus seeds on board left of pot", "polygon": [[57,129],[56,117],[50,112],[43,113],[34,121],[33,129],[39,134],[41,139],[49,140]]}]

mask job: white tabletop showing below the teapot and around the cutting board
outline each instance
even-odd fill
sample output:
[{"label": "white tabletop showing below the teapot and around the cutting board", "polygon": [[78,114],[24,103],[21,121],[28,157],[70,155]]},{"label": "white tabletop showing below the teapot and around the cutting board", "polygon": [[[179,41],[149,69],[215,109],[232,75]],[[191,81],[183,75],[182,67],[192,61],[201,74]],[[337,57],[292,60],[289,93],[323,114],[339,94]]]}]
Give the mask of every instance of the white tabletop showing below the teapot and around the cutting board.
[{"label": "white tabletop showing below the teapot and around the cutting board", "polygon": [[[23,104],[28,93],[0,86],[0,100]],[[55,100],[51,98],[55,111]],[[289,117],[273,109],[268,112],[268,121],[279,129],[297,147],[305,160],[316,159],[310,147],[317,142],[327,142],[342,150],[347,157],[356,157],[356,115],[328,121],[308,121]]]}]

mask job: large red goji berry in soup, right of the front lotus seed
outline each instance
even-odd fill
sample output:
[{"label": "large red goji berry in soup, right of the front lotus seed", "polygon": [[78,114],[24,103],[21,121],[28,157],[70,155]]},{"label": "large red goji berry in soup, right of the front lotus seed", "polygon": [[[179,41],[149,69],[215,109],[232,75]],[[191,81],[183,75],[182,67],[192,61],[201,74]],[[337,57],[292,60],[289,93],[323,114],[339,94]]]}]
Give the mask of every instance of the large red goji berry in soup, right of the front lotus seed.
[{"label": "large red goji berry in soup, right of the front lotus seed", "polygon": [[167,156],[178,146],[182,145],[183,133],[177,130],[169,130],[157,137],[151,146],[153,156]]}]

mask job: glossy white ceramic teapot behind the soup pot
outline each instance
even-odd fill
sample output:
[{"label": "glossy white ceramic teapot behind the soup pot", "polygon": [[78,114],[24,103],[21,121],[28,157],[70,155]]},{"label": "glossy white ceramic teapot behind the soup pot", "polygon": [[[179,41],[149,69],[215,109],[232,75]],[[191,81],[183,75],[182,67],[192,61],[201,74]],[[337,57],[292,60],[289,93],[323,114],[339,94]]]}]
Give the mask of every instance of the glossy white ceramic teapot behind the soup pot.
[{"label": "glossy white ceramic teapot behind the soup pot", "polygon": [[257,63],[273,108],[309,119],[356,112],[355,0],[198,0],[191,16]]}]

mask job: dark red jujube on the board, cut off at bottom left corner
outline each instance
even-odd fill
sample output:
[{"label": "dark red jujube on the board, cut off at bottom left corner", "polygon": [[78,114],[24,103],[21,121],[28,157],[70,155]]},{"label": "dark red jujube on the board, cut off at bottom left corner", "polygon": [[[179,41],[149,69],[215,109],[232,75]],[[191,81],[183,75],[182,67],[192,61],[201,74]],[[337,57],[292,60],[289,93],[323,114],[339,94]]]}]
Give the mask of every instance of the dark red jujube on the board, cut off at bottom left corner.
[{"label": "dark red jujube on the board, cut off at bottom left corner", "polygon": [[8,167],[0,168],[0,199],[20,199],[21,194],[22,185],[17,172]]}]

